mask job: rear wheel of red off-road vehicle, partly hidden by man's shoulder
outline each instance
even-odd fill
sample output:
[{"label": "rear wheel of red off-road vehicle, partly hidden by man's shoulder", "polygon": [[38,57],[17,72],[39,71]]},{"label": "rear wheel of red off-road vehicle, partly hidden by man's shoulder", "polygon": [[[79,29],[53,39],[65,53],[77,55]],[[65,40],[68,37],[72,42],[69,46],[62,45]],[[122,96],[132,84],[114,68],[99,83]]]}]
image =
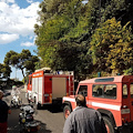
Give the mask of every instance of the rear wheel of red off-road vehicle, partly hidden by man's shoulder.
[{"label": "rear wheel of red off-road vehicle, partly hidden by man's shoulder", "polygon": [[108,133],[114,133],[114,127],[113,127],[110,119],[106,117],[106,116],[103,116],[103,121],[104,121],[104,123],[105,123]]}]

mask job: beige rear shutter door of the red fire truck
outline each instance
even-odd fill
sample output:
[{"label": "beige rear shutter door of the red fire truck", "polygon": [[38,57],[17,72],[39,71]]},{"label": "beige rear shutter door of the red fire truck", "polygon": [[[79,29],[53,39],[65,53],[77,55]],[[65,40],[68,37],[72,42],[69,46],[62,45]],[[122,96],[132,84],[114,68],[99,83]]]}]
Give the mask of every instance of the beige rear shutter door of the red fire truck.
[{"label": "beige rear shutter door of the red fire truck", "polygon": [[66,94],[66,78],[52,78],[52,98],[63,98]]}]

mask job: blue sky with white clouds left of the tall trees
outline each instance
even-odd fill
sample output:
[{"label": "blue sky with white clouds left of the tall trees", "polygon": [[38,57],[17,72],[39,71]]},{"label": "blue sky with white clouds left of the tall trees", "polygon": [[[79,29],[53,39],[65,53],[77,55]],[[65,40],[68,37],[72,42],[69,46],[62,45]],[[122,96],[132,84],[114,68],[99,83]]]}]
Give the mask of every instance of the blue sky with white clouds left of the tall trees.
[{"label": "blue sky with white clouds left of the tall trees", "polygon": [[[41,1],[0,0],[0,63],[3,63],[7,52],[10,50],[20,53],[23,49],[28,49],[35,55],[33,31]],[[11,79],[23,79],[20,70],[11,69]]]}]

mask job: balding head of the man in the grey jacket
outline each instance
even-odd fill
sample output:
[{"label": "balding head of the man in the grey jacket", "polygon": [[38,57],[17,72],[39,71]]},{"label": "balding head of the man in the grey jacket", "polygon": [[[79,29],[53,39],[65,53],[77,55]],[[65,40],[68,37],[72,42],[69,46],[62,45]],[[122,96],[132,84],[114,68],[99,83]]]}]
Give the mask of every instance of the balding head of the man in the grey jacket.
[{"label": "balding head of the man in the grey jacket", "polygon": [[78,94],[75,98],[76,106],[86,106],[85,96]]}]

